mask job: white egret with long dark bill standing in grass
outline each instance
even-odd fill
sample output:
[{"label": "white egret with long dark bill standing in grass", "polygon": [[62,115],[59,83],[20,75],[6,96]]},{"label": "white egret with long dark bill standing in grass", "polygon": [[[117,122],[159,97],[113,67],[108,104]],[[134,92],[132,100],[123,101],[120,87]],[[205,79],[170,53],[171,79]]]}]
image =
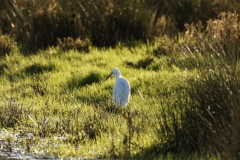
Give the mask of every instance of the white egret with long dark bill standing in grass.
[{"label": "white egret with long dark bill standing in grass", "polygon": [[126,107],[130,99],[130,84],[126,78],[122,77],[118,68],[113,69],[105,80],[111,76],[116,76],[116,82],[113,88],[113,98],[116,106]]}]

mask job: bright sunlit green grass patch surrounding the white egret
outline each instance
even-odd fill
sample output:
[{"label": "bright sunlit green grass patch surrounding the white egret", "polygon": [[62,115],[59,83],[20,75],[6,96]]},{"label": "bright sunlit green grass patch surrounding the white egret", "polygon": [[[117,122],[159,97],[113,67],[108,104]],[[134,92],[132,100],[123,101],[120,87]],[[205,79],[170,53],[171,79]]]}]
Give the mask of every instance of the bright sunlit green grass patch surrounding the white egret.
[{"label": "bright sunlit green grass patch surrounding the white egret", "polygon": [[[92,47],[89,53],[59,48],[29,56],[11,53],[0,60],[0,110],[6,113],[0,117],[1,126],[21,131],[26,139],[32,133],[22,146],[36,154],[178,157],[165,145],[174,141],[175,123],[184,128],[179,113],[195,103],[190,103],[186,91],[192,82],[202,80],[198,70],[206,59],[191,54],[158,58],[152,54],[156,47],[119,44],[114,49]],[[105,81],[115,67],[131,85],[126,109],[116,109],[112,103],[115,79]],[[220,159],[211,153],[181,156]]]}]

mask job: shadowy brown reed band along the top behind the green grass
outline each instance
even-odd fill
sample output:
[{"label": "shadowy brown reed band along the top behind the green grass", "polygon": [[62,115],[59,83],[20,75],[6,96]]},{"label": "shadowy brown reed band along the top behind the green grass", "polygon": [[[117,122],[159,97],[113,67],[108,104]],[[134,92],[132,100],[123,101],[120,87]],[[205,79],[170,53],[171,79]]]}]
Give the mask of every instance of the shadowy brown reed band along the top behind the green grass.
[{"label": "shadowy brown reed band along the top behind the green grass", "polygon": [[[176,37],[185,30],[185,23],[201,21],[206,26],[209,19],[229,11],[240,11],[237,0],[3,0],[0,29],[28,51],[59,43],[63,48],[77,45],[81,49]],[[81,41],[76,42],[77,38]]]}]

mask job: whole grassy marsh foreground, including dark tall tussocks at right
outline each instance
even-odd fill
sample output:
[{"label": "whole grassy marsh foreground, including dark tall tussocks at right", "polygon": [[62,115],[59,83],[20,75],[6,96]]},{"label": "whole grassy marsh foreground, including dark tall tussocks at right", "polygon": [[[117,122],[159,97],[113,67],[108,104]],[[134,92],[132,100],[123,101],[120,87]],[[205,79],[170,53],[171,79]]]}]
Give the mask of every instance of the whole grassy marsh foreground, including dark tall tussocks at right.
[{"label": "whole grassy marsh foreground, including dark tall tussocks at right", "polygon": [[[2,129],[20,135],[19,144],[33,154],[238,157],[238,50],[187,38],[87,53],[14,50],[0,60]],[[114,78],[104,81],[115,67],[131,85],[126,109],[112,103]]]}]

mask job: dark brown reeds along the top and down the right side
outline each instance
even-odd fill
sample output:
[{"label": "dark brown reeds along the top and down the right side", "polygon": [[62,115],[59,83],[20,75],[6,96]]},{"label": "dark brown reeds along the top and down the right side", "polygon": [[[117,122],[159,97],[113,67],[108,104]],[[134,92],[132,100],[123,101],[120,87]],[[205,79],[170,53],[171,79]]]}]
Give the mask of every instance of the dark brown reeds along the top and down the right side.
[{"label": "dark brown reeds along the top and down the right side", "polygon": [[[239,156],[237,0],[2,0],[0,12],[1,55],[10,52],[13,41],[30,53],[57,45],[64,50],[88,51],[90,45],[106,47],[135,40],[153,42],[165,35],[174,40],[185,36],[189,53],[206,54],[206,70],[199,71],[201,81],[191,80],[189,88],[180,89],[181,96],[190,95],[190,99],[174,104],[181,112],[169,106],[159,113],[170,122],[159,122],[159,135],[164,133],[169,139],[164,145],[146,149],[146,154],[184,150]],[[217,65],[207,53],[216,57]]]}]

